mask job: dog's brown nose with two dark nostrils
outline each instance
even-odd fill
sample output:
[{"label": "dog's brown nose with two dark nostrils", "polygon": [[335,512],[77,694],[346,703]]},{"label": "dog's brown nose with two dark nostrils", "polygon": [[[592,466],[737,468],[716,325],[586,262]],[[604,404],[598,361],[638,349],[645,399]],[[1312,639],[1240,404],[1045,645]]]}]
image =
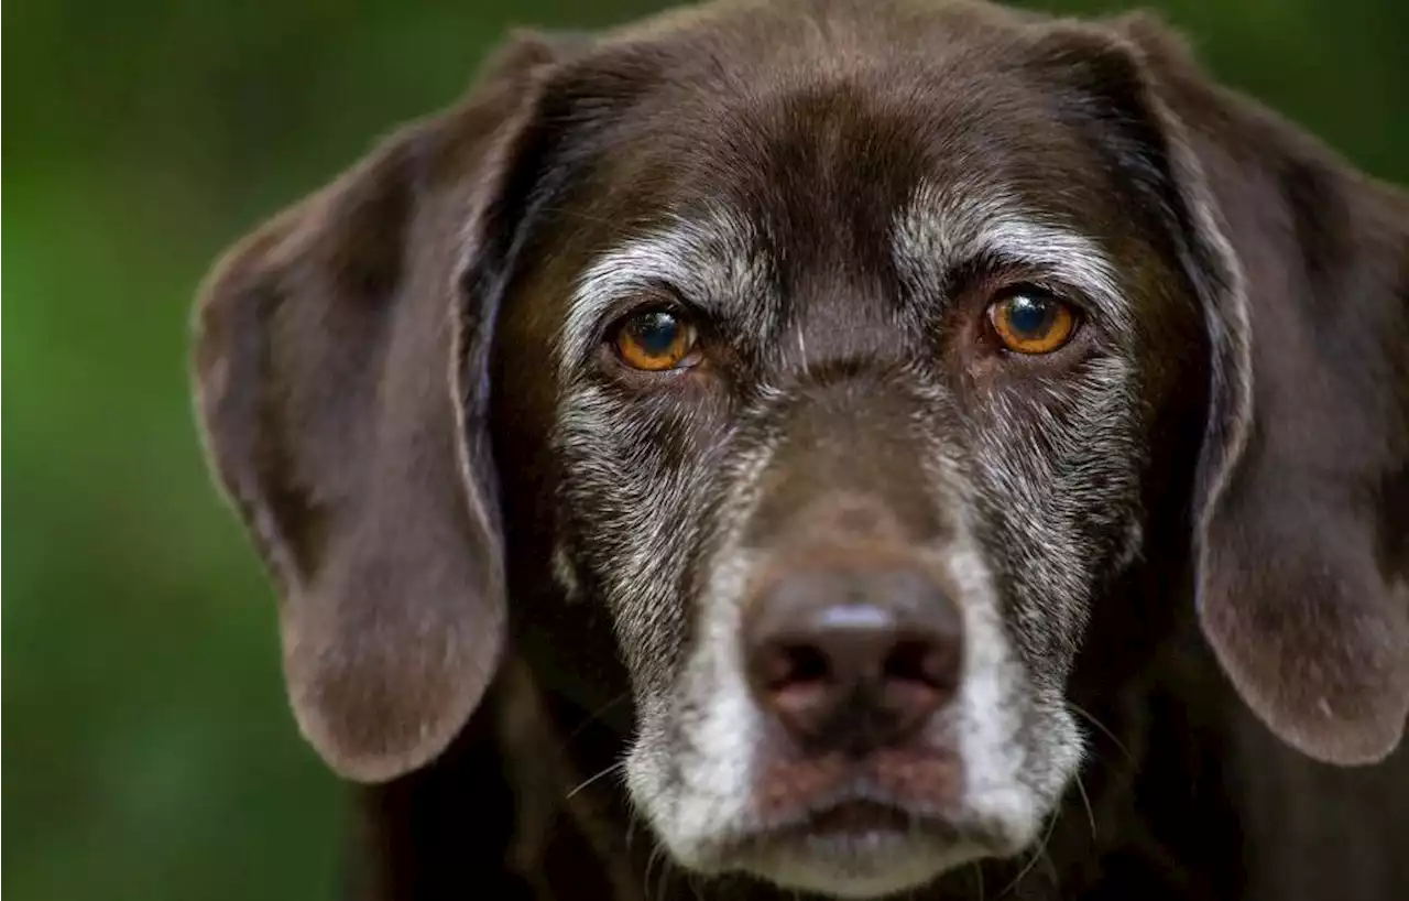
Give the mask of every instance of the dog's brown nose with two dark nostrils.
[{"label": "dog's brown nose with two dark nostrils", "polygon": [[750,684],[805,747],[868,753],[913,736],[952,695],[961,625],[919,567],[795,570],[750,601]]}]

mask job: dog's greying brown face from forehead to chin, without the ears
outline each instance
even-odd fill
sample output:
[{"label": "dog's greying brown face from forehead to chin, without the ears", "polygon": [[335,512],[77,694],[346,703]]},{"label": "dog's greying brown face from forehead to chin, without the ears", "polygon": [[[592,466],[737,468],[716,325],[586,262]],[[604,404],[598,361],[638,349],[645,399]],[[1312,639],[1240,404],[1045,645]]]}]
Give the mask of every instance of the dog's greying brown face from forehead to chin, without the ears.
[{"label": "dog's greying brown face from forehead to chin, without the ears", "polygon": [[552,448],[627,784],[696,869],[909,887],[1024,847],[1082,757],[1064,681],[1199,298],[1079,100],[965,37],[734,49],[765,96],[676,61],[507,295],[503,396],[554,382],[513,444]]}]

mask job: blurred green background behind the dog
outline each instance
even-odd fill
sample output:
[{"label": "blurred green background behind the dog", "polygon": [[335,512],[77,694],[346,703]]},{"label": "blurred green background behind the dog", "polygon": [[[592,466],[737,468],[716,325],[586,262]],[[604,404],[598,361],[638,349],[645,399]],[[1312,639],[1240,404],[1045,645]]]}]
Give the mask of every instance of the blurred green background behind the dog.
[{"label": "blurred green background behind the dog", "polygon": [[[1150,4],[1216,75],[1409,182],[1409,3]],[[655,6],[0,1],[0,901],[333,897],[344,798],[207,482],[192,290],[451,100],[504,28]]]}]

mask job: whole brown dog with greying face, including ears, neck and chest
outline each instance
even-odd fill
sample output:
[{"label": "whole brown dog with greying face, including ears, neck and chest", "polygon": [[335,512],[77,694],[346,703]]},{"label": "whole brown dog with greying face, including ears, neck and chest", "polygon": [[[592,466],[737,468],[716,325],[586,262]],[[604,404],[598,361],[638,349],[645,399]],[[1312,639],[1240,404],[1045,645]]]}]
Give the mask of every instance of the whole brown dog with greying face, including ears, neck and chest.
[{"label": "whole brown dog with greying face, including ears, neck and chest", "polygon": [[1409,897],[1409,199],[1158,17],[516,32],[193,379],[349,897]]}]

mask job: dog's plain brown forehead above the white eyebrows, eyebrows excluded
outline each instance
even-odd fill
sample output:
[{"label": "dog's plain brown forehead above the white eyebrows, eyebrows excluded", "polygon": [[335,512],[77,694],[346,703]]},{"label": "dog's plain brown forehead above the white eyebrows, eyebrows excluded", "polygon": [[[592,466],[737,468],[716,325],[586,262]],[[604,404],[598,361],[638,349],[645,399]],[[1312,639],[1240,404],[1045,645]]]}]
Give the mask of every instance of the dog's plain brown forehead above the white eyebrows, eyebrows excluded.
[{"label": "dog's plain brown forehead above the white eyebrows, eyebrows excluded", "polygon": [[1110,166],[1058,113],[1069,87],[1024,65],[1020,20],[940,4],[916,37],[851,4],[802,6],[652,48],[657,83],[609,131],[593,213],[641,231],[724,210],[788,271],[845,259],[858,278],[883,275],[898,219],[936,197],[1119,228]]}]

